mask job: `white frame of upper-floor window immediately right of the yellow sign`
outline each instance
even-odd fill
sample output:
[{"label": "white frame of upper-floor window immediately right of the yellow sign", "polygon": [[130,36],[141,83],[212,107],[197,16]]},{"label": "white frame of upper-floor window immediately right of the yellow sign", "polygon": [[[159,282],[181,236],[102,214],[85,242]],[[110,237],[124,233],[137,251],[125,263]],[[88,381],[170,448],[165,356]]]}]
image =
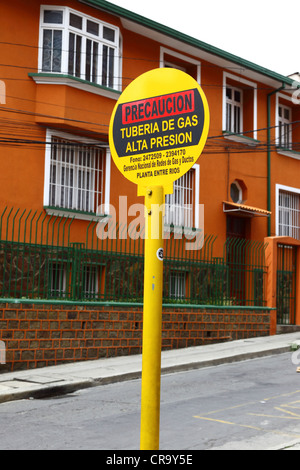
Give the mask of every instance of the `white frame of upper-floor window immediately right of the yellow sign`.
[{"label": "white frame of upper-floor window immediately right of the yellow sign", "polygon": [[[232,85],[229,80],[233,80],[235,82]],[[226,89],[236,88],[239,91],[242,91],[243,85],[246,85],[250,88],[253,88],[253,138],[249,137],[247,134],[243,135],[245,132],[243,128],[243,115],[244,115],[244,104],[242,101],[242,108],[241,108],[241,131],[238,135],[232,134],[230,131],[226,130],[226,122],[227,122],[227,97],[226,97]],[[224,137],[229,140],[234,140],[236,142],[245,143],[248,145],[253,145],[255,141],[257,141],[257,83],[251,82],[250,80],[246,80],[245,78],[238,77],[228,72],[223,72],[223,112],[222,112],[222,129],[223,133],[225,134]],[[251,129],[252,130],[252,129]],[[228,134],[226,134],[228,132]]]}]

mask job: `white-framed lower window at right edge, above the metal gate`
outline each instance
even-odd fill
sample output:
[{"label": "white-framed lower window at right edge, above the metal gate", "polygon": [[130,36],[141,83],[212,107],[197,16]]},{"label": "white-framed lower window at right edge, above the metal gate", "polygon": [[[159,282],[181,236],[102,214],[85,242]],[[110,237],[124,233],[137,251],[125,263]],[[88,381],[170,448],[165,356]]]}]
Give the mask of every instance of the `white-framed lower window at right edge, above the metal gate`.
[{"label": "white-framed lower window at right edge, above the metal gate", "polygon": [[300,240],[300,189],[277,186],[277,234]]}]

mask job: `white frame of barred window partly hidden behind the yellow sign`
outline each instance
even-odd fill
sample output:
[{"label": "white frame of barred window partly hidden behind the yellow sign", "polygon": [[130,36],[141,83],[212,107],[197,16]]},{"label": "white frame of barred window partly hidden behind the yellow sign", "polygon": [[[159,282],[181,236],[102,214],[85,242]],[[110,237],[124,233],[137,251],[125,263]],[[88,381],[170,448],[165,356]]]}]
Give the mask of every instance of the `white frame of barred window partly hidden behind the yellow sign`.
[{"label": "white frame of barred window partly hidden behind the yellow sign", "polygon": [[[171,214],[168,213],[169,206],[170,205],[176,205],[176,189],[178,188],[180,191],[182,191],[182,187],[178,186],[180,185],[181,182],[183,182],[184,179],[186,179],[189,174],[187,172],[185,175],[183,175],[179,180],[175,181],[173,183],[174,187],[174,192],[173,194],[169,194],[166,196],[166,202],[165,202],[165,229],[167,227],[170,227],[171,225],[174,225],[174,227],[186,227],[186,228],[200,228],[200,213],[199,213],[199,199],[200,199],[200,165],[195,164],[193,165],[192,169],[194,172],[193,175],[193,194],[192,194],[192,201],[186,201],[186,194],[183,194],[180,196],[180,198],[183,198],[183,203],[179,203],[177,205],[177,208],[175,207],[175,213]],[[191,171],[189,170],[189,171]],[[177,188],[176,188],[177,186]],[[190,198],[189,198],[190,199]],[[192,205],[192,208],[185,207],[186,205]],[[192,212],[191,212],[192,210]],[[175,223],[174,223],[175,222]]]}]

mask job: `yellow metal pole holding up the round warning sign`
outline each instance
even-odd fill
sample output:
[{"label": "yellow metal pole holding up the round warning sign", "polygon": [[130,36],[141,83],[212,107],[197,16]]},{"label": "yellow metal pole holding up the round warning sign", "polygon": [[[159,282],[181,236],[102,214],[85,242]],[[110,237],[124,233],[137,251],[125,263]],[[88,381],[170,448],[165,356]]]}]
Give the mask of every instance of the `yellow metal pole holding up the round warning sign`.
[{"label": "yellow metal pole holding up the round warning sign", "polygon": [[146,191],[141,450],[159,449],[164,188]]}]

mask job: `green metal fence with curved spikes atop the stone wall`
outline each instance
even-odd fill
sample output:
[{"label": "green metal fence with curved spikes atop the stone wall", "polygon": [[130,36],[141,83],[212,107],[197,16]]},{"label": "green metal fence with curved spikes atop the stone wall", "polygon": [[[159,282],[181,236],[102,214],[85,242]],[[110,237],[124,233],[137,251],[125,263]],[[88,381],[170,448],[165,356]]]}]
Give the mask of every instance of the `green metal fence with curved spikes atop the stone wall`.
[{"label": "green metal fence with curved spikes atop the stone wall", "polygon": [[[87,222],[42,211],[4,209],[0,216],[0,297],[80,302],[143,301],[144,240],[127,226],[97,236]],[[77,225],[76,225],[77,224]],[[135,236],[133,236],[135,235]],[[186,250],[191,235],[171,232],[164,241],[164,303],[264,306],[265,246],[229,239],[214,256],[217,237]],[[75,240],[74,240],[75,238]]]}]

